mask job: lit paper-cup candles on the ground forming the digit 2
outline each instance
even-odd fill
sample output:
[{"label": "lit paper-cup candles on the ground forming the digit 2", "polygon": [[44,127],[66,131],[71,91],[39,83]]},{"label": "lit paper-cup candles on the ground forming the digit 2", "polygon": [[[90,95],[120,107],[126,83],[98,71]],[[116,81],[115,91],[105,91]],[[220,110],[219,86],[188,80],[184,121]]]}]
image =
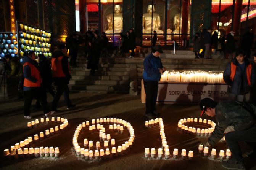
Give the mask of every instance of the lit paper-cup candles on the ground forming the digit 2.
[{"label": "lit paper-cup candles on the ground forming the digit 2", "polygon": [[[49,120],[49,118],[45,118],[46,120]],[[55,118],[52,117],[51,118],[51,121],[52,122],[55,122]],[[49,122],[49,121],[46,121],[46,122]],[[50,135],[54,135],[55,133],[58,133],[59,131],[62,131],[64,130],[67,126],[68,126],[68,119],[64,119],[64,118],[60,118],[58,117],[57,118],[57,122],[63,122],[62,124],[60,124],[60,128],[58,126],[55,126],[54,128],[50,128],[45,130],[45,133],[44,132],[40,132],[39,133],[39,136],[38,134],[35,134],[34,135],[34,140],[32,137],[28,137],[27,139],[25,139],[24,141],[20,141],[19,143],[16,143],[15,145],[11,146],[11,149],[9,151],[9,149],[5,149],[4,150],[4,156],[13,156],[13,157],[16,157],[17,158],[17,155],[18,157],[33,157],[33,155],[35,157],[48,157],[48,156],[55,156],[55,157],[58,157],[59,156],[59,153],[60,153],[60,150],[58,147],[56,148],[53,148],[53,147],[40,147],[40,148],[32,148],[29,146],[32,145],[32,143],[37,143],[40,140],[43,140],[45,137],[49,137]],[[45,123],[45,120],[44,118],[41,118],[40,119],[40,123],[41,124],[44,124]],[[27,126],[28,127],[32,127],[32,126],[37,126],[39,125],[39,120],[36,119],[35,121],[31,121],[31,122],[28,122],[27,123]]]}]

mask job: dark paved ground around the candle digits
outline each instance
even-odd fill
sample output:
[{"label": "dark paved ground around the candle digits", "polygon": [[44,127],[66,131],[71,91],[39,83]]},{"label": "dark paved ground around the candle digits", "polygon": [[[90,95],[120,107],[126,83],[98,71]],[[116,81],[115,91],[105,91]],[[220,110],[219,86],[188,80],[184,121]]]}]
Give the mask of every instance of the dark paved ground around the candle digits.
[{"label": "dark paved ground around the candle digits", "polygon": [[[140,102],[140,96],[124,94],[71,94],[71,99],[77,108],[66,110],[63,98],[59,103],[62,110],[54,116],[67,118],[70,126],[66,131],[45,139],[32,147],[39,146],[59,146],[61,156],[59,159],[34,158],[26,160],[4,160],[1,154],[0,168],[2,169],[108,169],[108,170],[159,170],[159,169],[197,169],[197,170],[222,170],[221,162],[209,160],[201,157],[197,152],[197,146],[205,143],[207,138],[197,138],[193,135],[177,131],[179,119],[187,117],[199,117],[200,110],[197,105],[158,105],[157,110],[161,113],[165,125],[166,139],[172,152],[174,148],[194,151],[192,160],[145,160],[143,158],[144,148],[160,148],[159,129],[157,127],[147,129],[144,123],[147,118],[143,116],[144,104]],[[48,96],[48,101],[52,97]],[[35,101],[33,101],[35,103]],[[33,119],[42,117],[42,111],[32,109]],[[130,122],[135,130],[135,140],[133,148],[124,156],[108,160],[88,163],[78,159],[72,151],[72,135],[76,127],[87,120],[112,117],[121,118]],[[203,117],[206,118],[206,117]],[[207,118],[209,119],[209,118]],[[214,121],[214,119],[213,119]],[[55,123],[57,124],[57,123]],[[53,124],[43,125],[28,129],[27,120],[23,118],[23,102],[17,100],[0,100],[0,150],[9,148],[11,145],[24,140],[25,138],[38,134],[53,126]],[[108,131],[108,129],[107,129]],[[128,132],[122,135],[110,132],[119,145],[127,140]],[[97,133],[82,133],[79,136],[79,143],[82,146],[83,139],[97,141]],[[215,146],[218,151],[227,149],[225,143]],[[248,169],[256,170],[255,162],[250,158],[246,159]]]}]

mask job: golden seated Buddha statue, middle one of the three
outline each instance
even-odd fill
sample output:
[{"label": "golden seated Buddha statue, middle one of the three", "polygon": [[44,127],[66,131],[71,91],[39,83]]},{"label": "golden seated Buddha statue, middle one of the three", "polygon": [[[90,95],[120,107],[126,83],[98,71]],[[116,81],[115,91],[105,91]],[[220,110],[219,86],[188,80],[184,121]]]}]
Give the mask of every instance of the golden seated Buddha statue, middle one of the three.
[{"label": "golden seated Buddha statue, middle one of the three", "polygon": [[[159,29],[161,26],[161,21],[160,21],[159,14],[155,13],[155,6],[152,4],[148,5],[147,12],[148,13],[143,14],[143,17],[142,17],[143,33],[151,33],[153,31],[156,31],[156,33],[164,33],[163,30]],[[153,13],[153,20],[152,20],[152,13]]]}]

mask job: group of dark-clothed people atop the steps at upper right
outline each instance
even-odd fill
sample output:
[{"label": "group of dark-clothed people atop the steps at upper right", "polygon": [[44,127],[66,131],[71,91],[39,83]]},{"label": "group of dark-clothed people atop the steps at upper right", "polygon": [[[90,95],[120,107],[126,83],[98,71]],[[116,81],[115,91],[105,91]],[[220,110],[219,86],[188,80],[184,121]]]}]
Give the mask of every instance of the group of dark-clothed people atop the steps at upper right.
[{"label": "group of dark-clothed people atop the steps at upper right", "polygon": [[[230,31],[227,36],[223,33],[217,34],[214,31],[212,34],[212,29],[203,29],[201,35],[196,33],[193,38],[193,52],[195,52],[195,58],[211,59],[212,54],[215,55],[217,51],[224,56],[225,59],[230,59],[235,57],[236,40],[234,38],[235,32]],[[251,48],[253,45],[253,34],[247,31],[239,45],[239,49],[245,51],[246,57],[251,57]],[[201,51],[203,49],[203,51]]]}]

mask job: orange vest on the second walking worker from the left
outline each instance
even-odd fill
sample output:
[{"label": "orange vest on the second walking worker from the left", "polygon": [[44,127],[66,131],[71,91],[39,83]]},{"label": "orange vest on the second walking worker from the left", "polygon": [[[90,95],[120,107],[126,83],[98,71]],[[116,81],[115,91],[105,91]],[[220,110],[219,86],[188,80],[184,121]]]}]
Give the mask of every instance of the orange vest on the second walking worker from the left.
[{"label": "orange vest on the second walking worker from the left", "polygon": [[[66,75],[63,72],[62,69],[62,64],[61,60],[63,59],[63,56],[58,57],[58,58],[52,58],[51,63],[52,63],[52,76],[53,77],[66,77]],[[68,70],[70,73],[70,68],[68,64]]]}]

